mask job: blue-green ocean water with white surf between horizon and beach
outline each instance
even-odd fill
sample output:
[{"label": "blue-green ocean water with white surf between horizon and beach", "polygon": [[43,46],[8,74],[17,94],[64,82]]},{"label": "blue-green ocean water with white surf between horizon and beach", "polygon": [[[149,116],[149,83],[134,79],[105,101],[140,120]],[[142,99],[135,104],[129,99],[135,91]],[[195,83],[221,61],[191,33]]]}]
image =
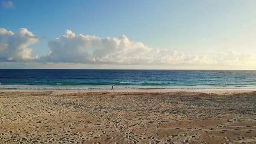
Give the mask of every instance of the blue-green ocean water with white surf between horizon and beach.
[{"label": "blue-green ocean water with white surf between horizon and beach", "polygon": [[256,71],[0,69],[1,89],[256,89]]}]

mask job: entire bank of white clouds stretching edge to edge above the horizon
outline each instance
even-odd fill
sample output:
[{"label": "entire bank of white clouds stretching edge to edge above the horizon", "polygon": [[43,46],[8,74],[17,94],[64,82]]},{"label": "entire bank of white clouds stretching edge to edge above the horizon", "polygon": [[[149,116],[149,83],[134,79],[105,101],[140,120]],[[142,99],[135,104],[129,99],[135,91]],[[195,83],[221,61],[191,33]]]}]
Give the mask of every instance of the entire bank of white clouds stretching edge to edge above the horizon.
[{"label": "entire bank of white clouds stretching edge to edge above the horizon", "polygon": [[176,50],[149,48],[141,42],[129,40],[125,35],[100,38],[75,34],[71,30],[48,42],[48,54],[32,57],[33,49],[28,46],[38,40],[26,28],[20,28],[15,33],[0,29],[0,61],[93,65],[256,65],[256,54],[228,51],[219,52],[216,56],[192,56]]}]

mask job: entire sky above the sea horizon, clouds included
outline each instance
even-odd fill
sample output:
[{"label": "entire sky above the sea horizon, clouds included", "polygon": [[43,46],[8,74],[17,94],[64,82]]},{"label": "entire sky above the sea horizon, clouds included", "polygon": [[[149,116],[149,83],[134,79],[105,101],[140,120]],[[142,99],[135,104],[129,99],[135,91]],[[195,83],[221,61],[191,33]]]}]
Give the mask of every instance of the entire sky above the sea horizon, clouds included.
[{"label": "entire sky above the sea horizon, clouds included", "polygon": [[0,0],[0,69],[256,69],[255,0]]}]

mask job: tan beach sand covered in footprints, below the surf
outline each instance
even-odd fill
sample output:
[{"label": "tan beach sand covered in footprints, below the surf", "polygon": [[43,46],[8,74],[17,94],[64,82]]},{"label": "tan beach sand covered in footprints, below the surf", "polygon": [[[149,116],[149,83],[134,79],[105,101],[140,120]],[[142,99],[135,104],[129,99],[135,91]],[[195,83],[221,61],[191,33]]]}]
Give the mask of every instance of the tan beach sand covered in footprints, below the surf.
[{"label": "tan beach sand covered in footprints, below the surf", "polygon": [[256,91],[0,90],[0,143],[256,144]]}]

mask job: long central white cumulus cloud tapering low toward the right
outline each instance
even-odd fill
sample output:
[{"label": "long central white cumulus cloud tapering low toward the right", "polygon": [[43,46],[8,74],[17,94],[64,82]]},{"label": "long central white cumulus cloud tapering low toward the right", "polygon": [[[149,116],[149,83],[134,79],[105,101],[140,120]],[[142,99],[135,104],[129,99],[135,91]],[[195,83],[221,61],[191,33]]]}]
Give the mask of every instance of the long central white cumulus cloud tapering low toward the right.
[{"label": "long central white cumulus cloud tapering low toward the right", "polygon": [[118,65],[164,65],[164,64],[209,64],[206,56],[186,56],[182,52],[167,49],[152,49],[141,42],[132,42],[127,36],[99,38],[76,35],[66,30],[61,38],[49,41],[44,62],[73,62]]}]

